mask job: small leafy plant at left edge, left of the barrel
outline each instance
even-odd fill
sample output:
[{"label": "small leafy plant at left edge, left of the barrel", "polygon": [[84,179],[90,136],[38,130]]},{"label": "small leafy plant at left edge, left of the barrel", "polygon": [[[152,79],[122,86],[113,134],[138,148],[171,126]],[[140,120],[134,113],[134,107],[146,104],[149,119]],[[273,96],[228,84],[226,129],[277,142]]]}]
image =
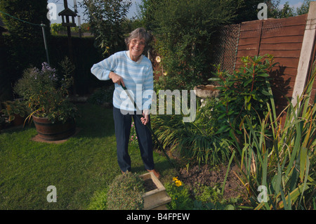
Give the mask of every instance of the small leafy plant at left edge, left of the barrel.
[{"label": "small leafy plant at left edge, left of the barrel", "polygon": [[4,109],[2,109],[1,112],[4,116],[8,117],[8,122],[13,122],[14,126],[23,124],[25,117],[29,112],[25,102],[22,102],[21,100],[7,100],[2,104],[4,105]]}]

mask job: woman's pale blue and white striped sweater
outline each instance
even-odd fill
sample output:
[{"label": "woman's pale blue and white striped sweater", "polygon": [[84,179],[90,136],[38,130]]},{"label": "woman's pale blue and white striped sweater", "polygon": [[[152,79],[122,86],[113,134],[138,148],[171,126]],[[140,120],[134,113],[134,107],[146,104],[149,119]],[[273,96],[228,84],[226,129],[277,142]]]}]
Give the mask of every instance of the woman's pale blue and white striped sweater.
[{"label": "woman's pale blue and white striped sweater", "polygon": [[[114,72],[123,78],[126,88],[134,97],[140,110],[150,109],[154,89],[154,76],[152,62],[148,58],[142,55],[135,62],[129,58],[129,51],[119,51],[91,67],[91,73],[100,80],[109,80],[110,72]],[[118,84],[114,85],[113,106],[121,110],[135,111],[136,108],[129,100],[124,89]]]}]

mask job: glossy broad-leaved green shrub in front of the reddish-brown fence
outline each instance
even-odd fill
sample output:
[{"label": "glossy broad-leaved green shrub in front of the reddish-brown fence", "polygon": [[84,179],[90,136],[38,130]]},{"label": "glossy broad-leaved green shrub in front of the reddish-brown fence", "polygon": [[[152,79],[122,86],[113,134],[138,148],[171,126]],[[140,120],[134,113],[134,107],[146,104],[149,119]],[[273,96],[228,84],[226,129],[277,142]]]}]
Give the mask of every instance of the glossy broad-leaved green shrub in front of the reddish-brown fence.
[{"label": "glossy broad-leaved green shrub in front of the reddish-brown fence", "polygon": [[243,57],[244,65],[238,71],[228,74],[218,69],[214,73],[216,77],[209,79],[217,81],[221,91],[216,105],[220,124],[217,134],[229,133],[232,139],[235,139],[237,135],[242,134],[239,124],[244,116],[249,116],[255,129],[265,117],[268,111],[267,103],[270,102],[269,72],[277,64],[273,63],[272,55],[265,56],[268,58],[263,62],[263,56]]}]

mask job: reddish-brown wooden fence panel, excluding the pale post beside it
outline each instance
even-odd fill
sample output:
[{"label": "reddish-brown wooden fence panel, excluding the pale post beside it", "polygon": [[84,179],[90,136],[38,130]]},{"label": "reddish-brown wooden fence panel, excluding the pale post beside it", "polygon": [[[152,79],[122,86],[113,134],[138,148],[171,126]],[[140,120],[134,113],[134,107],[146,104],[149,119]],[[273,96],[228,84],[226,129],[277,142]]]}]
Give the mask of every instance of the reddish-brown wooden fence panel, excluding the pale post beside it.
[{"label": "reddish-brown wooden fence panel, excluding the pale post beside it", "polygon": [[270,54],[279,65],[271,72],[272,91],[279,112],[291,99],[298,72],[307,15],[242,22],[236,68],[242,56]]}]

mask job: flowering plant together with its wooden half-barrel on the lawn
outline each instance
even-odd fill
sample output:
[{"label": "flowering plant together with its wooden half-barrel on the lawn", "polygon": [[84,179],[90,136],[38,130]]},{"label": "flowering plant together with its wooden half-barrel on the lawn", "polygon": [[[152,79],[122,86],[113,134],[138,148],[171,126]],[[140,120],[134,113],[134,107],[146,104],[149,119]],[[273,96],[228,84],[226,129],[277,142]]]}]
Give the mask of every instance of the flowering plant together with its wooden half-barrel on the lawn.
[{"label": "flowering plant together with its wooden half-barrel on the lawn", "polygon": [[38,137],[44,140],[62,140],[72,136],[76,129],[77,107],[69,100],[68,88],[72,86],[74,66],[68,58],[60,63],[63,75],[42,63],[41,70],[30,67],[14,87],[26,100]]}]

